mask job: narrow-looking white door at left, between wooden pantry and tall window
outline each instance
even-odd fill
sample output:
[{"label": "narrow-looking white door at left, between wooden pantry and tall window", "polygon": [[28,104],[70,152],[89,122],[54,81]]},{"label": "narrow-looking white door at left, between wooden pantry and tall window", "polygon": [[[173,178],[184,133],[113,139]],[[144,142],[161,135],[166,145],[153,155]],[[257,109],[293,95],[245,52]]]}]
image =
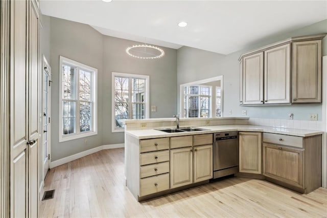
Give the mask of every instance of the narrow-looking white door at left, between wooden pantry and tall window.
[{"label": "narrow-looking white door at left, between wooden pantry and tall window", "polygon": [[43,84],[42,84],[42,129],[43,129],[43,144],[42,144],[42,160],[43,160],[43,177],[50,168],[50,102],[51,102],[51,67],[43,56]]}]

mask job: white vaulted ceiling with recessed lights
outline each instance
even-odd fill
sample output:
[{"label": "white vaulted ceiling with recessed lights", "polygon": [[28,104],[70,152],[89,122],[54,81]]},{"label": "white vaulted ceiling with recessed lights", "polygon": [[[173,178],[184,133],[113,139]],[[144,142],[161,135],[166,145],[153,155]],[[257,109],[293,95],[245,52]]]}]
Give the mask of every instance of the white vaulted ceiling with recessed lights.
[{"label": "white vaulted ceiling with recessed lights", "polygon": [[[221,54],[327,19],[327,1],[41,1],[42,14],[104,35]],[[180,28],[177,23],[187,21]],[[327,27],[326,27],[327,31]]]}]

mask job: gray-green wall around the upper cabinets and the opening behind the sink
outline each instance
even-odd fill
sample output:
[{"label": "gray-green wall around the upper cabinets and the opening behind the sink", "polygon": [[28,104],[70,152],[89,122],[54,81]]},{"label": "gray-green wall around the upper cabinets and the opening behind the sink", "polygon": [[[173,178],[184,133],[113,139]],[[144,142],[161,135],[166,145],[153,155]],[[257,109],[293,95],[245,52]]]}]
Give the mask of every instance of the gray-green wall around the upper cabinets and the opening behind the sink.
[{"label": "gray-green wall around the upper cabinets and the opening behind the sink", "polygon": [[[322,20],[319,23],[289,33],[264,38],[255,44],[248,45],[244,50],[229,55],[182,47],[177,50],[177,85],[179,87],[183,83],[223,75],[224,117],[242,116],[242,110],[246,110],[248,117],[287,119],[287,115],[292,112],[295,120],[308,120],[309,114],[318,114],[318,120],[321,121],[321,104],[285,106],[239,105],[240,76],[238,58],[241,54],[289,37],[317,33],[327,33],[327,20]],[[327,37],[322,40],[322,54],[327,55]],[[177,92],[179,99],[179,89]],[[177,104],[179,108],[179,100]],[[232,110],[231,115],[228,114],[229,110]]]}]

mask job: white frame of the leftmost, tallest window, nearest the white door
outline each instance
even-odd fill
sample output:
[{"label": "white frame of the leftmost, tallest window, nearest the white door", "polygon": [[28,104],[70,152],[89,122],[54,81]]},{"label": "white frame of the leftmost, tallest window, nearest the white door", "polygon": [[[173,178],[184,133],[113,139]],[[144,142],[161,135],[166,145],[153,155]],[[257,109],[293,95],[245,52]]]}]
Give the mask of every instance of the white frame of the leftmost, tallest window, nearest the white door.
[{"label": "white frame of the leftmost, tallest window, nearest the white door", "polygon": [[[80,132],[80,115],[79,115],[79,104],[76,104],[76,133],[63,135],[62,134],[62,65],[67,64],[72,67],[77,68],[77,76],[79,75],[79,69],[85,70],[88,72],[92,72],[92,84],[91,84],[91,92],[92,92],[92,130],[87,132]],[[78,80],[77,80],[77,91],[76,91],[76,99],[78,100]],[[94,136],[98,134],[98,69],[87,66],[86,64],[77,62],[75,60],[68,59],[63,56],[59,56],[59,142],[84,138],[88,136]]]}]

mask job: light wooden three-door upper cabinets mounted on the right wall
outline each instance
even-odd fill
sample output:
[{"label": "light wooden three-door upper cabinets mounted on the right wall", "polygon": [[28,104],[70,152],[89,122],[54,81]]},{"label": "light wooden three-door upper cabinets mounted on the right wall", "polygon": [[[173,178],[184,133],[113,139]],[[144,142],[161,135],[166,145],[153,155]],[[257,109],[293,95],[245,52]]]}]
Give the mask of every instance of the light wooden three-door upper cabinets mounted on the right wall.
[{"label": "light wooden three-door upper cabinets mounted on the right wall", "polygon": [[292,37],[241,55],[240,104],[320,103],[325,35]]}]

